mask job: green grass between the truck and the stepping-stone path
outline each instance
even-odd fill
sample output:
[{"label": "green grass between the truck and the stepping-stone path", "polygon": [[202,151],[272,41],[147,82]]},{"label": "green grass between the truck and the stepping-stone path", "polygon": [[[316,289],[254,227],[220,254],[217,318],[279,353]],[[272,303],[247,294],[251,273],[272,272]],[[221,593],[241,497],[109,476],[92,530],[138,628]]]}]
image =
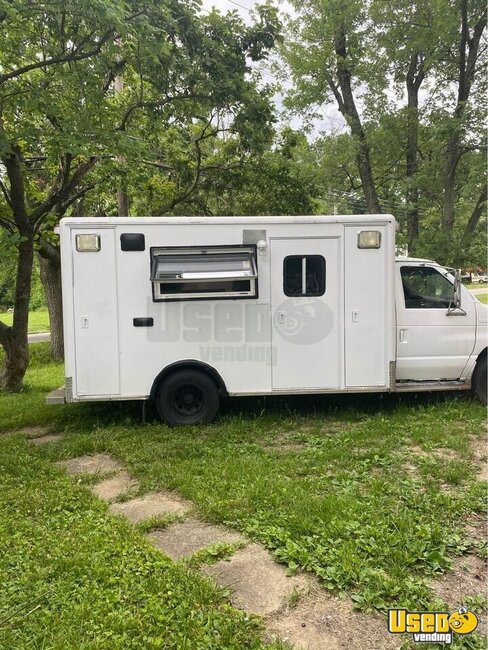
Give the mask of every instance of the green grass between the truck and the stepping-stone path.
[{"label": "green grass between the truck and the stepping-stone path", "polygon": [[483,436],[485,409],[469,394],[234,399],[212,425],[170,429],[143,426],[137,403],[45,406],[62,368],[33,347],[25,392],[0,394],[0,428],[68,435],[30,457],[111,453],[141,492],[177,490],[363,610],[439,606],[428,581],[474,544],[463,529],[485,485],[468,436]]}]

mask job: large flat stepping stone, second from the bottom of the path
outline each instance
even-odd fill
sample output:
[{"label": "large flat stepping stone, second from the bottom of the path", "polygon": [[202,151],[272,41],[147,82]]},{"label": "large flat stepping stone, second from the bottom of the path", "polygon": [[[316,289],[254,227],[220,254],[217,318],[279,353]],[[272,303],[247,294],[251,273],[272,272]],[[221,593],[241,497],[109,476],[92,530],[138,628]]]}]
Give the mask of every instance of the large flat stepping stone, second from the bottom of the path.
[{"label": "large flat stepping stone, second from the bottom of the path", "polygon": [[308,578],[287,577],[285,568],[258,544],[237,551],[229,561],[205,567],[204,572],[232,589],[233,605],[261,616],[277,612],[294,592],[309,588]]}]

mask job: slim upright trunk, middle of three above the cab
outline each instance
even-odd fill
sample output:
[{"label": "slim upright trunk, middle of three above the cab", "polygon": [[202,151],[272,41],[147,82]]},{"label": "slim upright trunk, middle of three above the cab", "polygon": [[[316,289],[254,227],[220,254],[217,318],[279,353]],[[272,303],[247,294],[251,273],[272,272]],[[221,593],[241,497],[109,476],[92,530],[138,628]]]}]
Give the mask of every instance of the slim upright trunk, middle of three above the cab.
[{"label": "slim upright trunk, middle of three above the cab", "polygon": [[414,52],[406,76],[407,86],[407,241],[409,250],[415,249],[419,237],[419,190],[417,187],[417,153],[419,132],[419,88],[424,80],[424,69],[421,54]]}]

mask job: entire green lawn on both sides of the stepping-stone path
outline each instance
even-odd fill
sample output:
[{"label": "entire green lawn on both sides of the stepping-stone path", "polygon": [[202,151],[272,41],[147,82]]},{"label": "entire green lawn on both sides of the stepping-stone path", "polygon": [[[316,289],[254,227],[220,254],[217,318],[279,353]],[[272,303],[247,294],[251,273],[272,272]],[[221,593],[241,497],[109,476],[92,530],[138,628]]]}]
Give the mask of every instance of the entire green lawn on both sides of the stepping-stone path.
[{"label": "entire green lawn on both sides of the stepping-stone path", "polygon": [[[24,647],[19,639],[38,647],[47,639],[46,647],[57,648],[64,634],[73,644],[64,647],[98,647],[90,645],[97,633],[114,635],[105,647],[124,647],[124,634],[141,644],[131,647],[144,647],[144,635],[156,633],[151,624],[165,625],[169,616],[164,599],[154,601],[165,590],[172,592],[168,608],[177,607],[175,621],[196,609],[188,647],[259,647],[252,645],[255,622],[225,610],[206,583],[192,578],[191,589],[180,565],[158,559],[136,532],[106,518],[105,506],[48,462],[61,458],[112,454],[137,477],[141,493],[177,490],[201,517],[260,541],[290,572],[314,574],[365,611],[442,606],[429,581],[469,549],[486,553],[465,532],[486,507],[472,446],[482,446],[485,409],[469,395],[235,399],[212,425],[169,429],[156,420],[142,425],[134,403],[44,405],[45,393],[61,383],[62,367],[39,344],[25,392],[0,394],[0,429],[49,424],[69,433],[35,450],[18,437],[0,437],[0,562],[8,594],[0,621],[9,607],[37,602],[46,587],[51,594],[46,611],[8,632],[18,645],[0,647]],[[94,576],[87,566],[97,567]],[[76,607],[66,611],[68,601]],[[205,636],[202,607],[227,645]],[[250,645],[242,645],[246,634]],[[174,635],[176,645],[164,647],[187,647]],[[485,647],[474,637],[469,643]]]}]

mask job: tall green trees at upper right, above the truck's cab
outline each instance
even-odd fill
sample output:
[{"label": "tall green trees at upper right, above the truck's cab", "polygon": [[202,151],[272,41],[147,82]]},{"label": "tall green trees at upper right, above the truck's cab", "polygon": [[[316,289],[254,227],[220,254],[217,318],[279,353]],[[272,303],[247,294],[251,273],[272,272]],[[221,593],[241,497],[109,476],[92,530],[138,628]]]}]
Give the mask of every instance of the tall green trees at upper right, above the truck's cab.
[{"label": "tall green trees at upper right, above the truck's cab", "polygon": [[288,105],[321,117],[335,103],[350,131],[319,138],[327,205],[371,211],[368,185],[411,252],[485,266],[484,3],[292,4]]}]

